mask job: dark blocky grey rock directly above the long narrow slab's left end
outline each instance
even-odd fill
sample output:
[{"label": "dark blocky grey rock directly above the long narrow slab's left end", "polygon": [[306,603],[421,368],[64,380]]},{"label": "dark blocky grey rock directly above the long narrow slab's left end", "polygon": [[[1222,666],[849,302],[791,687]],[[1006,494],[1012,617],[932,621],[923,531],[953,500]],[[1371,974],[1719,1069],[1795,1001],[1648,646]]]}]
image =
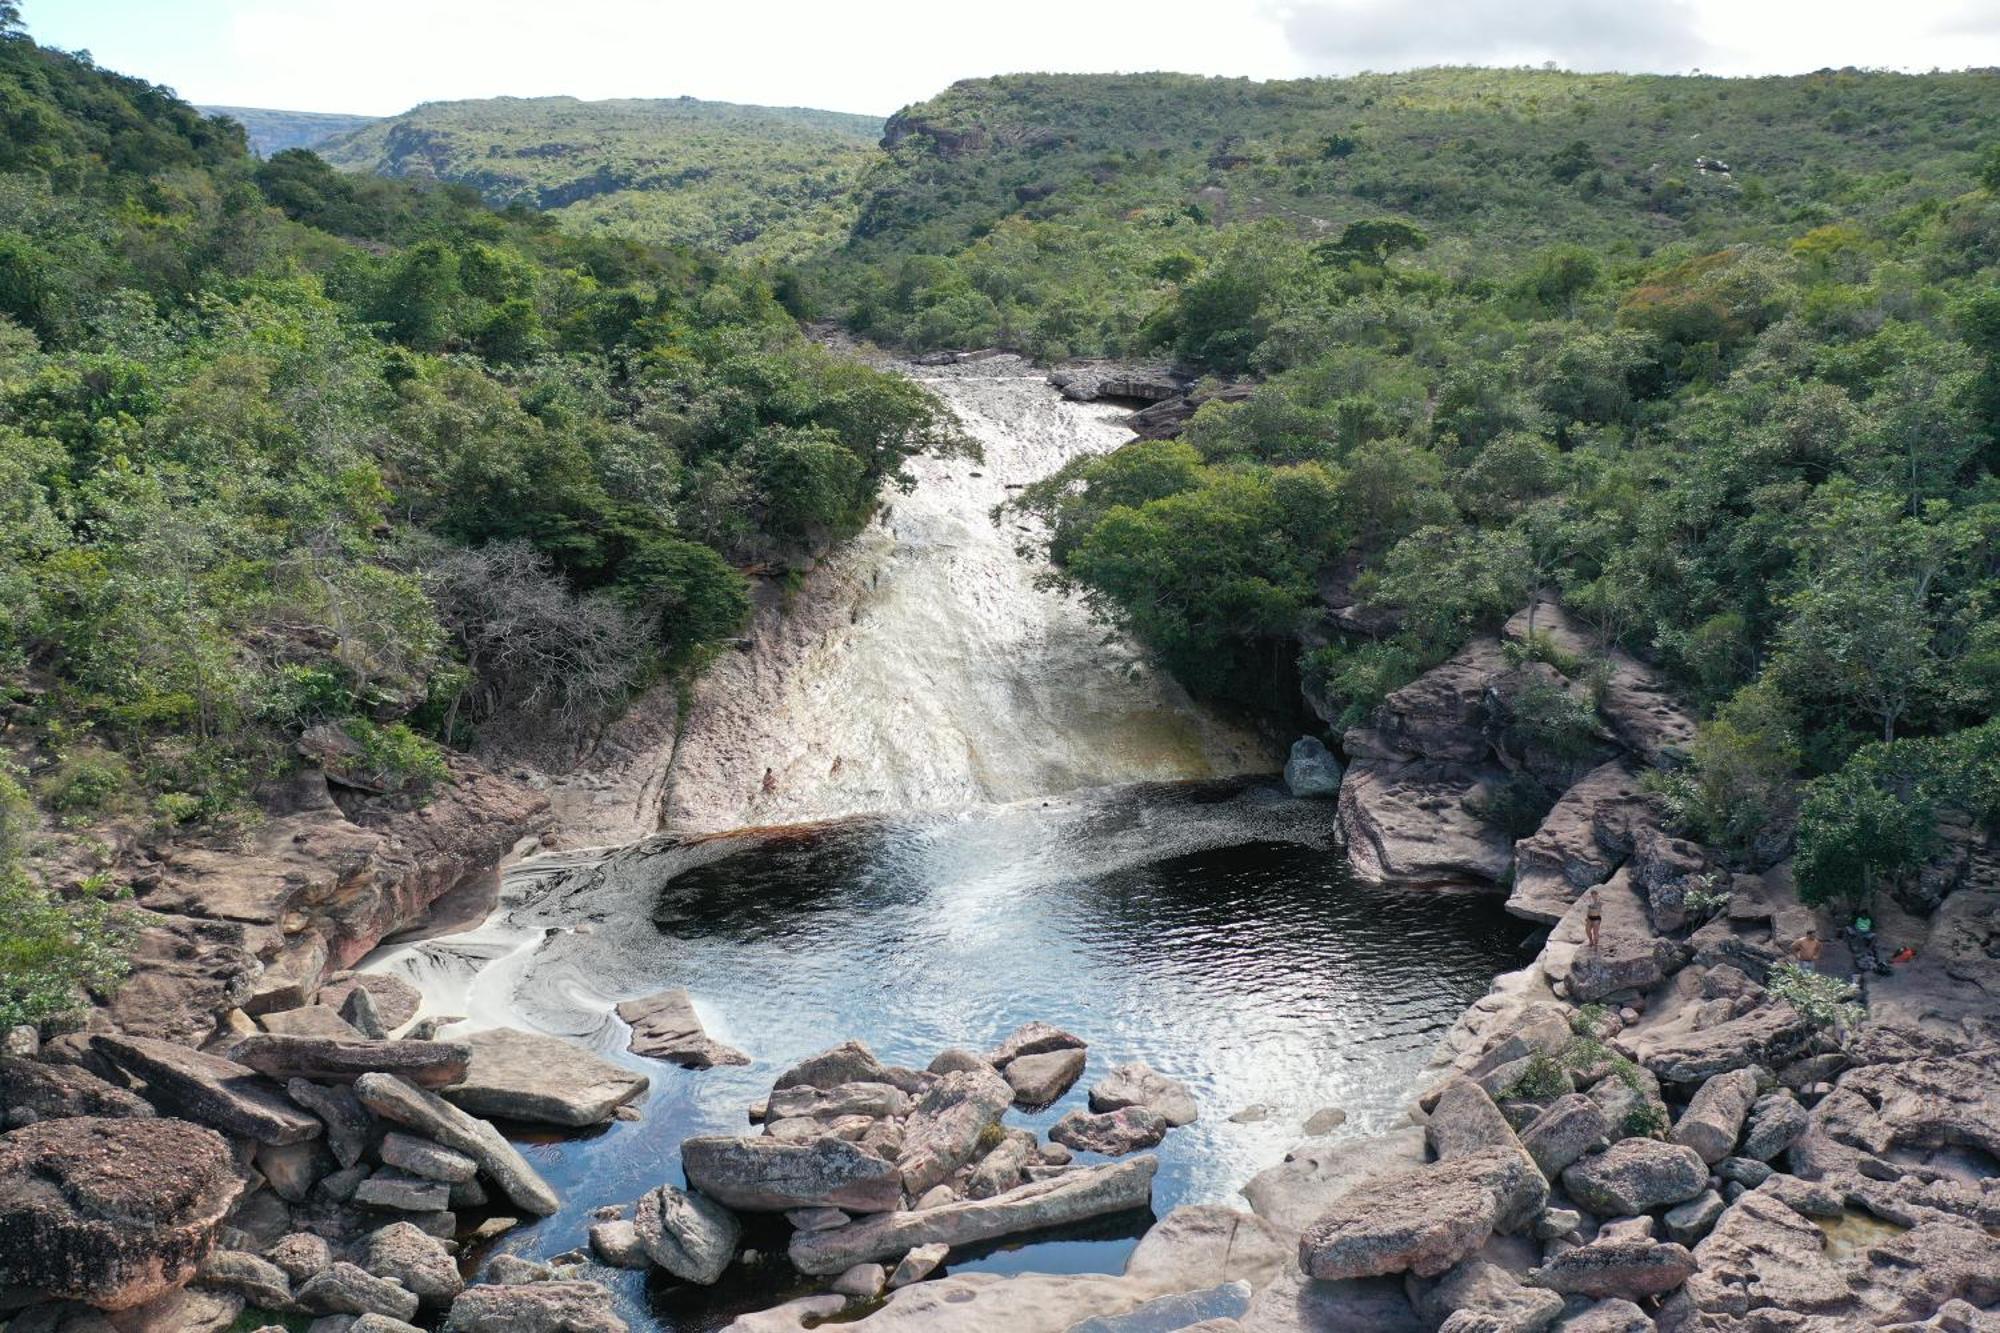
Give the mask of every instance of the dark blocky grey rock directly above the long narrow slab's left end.
[{"label": "dark blocky grey rock directly above the long narrow slab's left end", "polygon": [[896,1165],[844,1139],[688,1139],[680,1145],[680,1163],[688,1185],[746,1213],[812,1207],[884,1213],[902,1205],[904,1177]]}]

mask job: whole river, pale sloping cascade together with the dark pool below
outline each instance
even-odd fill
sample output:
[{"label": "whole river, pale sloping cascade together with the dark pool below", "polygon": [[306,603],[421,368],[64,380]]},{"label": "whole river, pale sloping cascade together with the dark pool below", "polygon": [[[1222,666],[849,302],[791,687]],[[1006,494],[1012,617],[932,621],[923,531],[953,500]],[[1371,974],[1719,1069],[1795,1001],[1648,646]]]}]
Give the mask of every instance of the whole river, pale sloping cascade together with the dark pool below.
[{"label": "whole river, pale sloping cascade together with the dark pool below", "polygon": [[[1520,961],[1494,899],[1352,883],[1330,805],[1284,793],[1270,741],[1038,586],[990,510],[1128,438],[1112,412],[1026,374],[932,386],[984,460],[922,460],[916,490],[710,675],[666,787],[672,833],[524,863],[478,929],[372,963],[432,1013],[562,1033],[652,1077],[640,1121],[530,1139],[564,1211],[508,1251],[562,1253],[592,1209],[678,1183],[680,1139],[744,1133],[744,1107],[812,1051],[860,1037],[922,1067],[1028,1019],[1090,1041],[1090,1069],[1012,1121],[1046,1129],[1144,1059],[1202,1107],[1158,1149],[1154,1211],[1226,1203],[1316,1109],[1358,1131],[1400,1119],[1444,1029]],[[610,1005],[666,985],[754,1063],[626,1055]],[[1248,1107],[1262,1119],[1232,1119]],[[1116,1271],[1148,1221],[952,1269]],[[714,1291],[594,1275],[638,1329],[714,1329],[810,1289],[782,1227],[752,1245],[770,1257]]]}]

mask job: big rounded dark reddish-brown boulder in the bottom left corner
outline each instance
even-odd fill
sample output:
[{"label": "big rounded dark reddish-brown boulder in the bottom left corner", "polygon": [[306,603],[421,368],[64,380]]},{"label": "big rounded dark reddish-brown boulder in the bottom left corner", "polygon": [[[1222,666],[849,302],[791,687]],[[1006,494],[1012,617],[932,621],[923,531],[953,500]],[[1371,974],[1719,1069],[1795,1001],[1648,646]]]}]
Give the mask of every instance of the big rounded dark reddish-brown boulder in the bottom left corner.
[{"label": "big rounded dark reddish-brown boulder in the bottom left corner", "polygon": [[0,1285],[132,1309],[194,1277],[242,1191],[220,1135],[76,1117],[0,1137]]}]

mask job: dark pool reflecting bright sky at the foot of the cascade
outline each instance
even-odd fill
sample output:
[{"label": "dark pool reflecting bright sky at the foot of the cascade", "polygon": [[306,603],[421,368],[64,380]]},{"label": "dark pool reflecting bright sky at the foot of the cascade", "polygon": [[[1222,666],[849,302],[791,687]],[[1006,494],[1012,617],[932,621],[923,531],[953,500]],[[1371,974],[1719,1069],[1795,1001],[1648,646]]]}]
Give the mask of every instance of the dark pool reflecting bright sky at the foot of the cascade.
[{"label": "dark pool reflecting bright sky at the foot of the cascade", "polygon": [[[1164,1213],[1230,1201],[1320,1107],[1344,1107],[1356,1133],[1400,1119],[1436,1039],[1518,965],[1522,931],[1496,899],[1354,885],[1330,825],[1326,805],[1232,783],[656,839],[556,879],[516,877],[488,927],[394,965],[436,1011],[578,1035],[654,1079],[640,1123],[528,1149],[566,1207],[508,1241],[522,1253],[560,1253],[590,1209],[678,1181],[680,1139],[746,1133],[746,1105],[812,1051],[860,1037],[922,1067],[1028,1019],[1090,1041],[1090,1067],[1016,1123],[1046,1129],[1132,1059],[1190,1085],[1202,1119],[1160,1147]],[[666,985],[688,987],[710,1033],[756,1063],[692,1073],[624,1055],[610,1005]],[[1232,1125],[1250,1103],[1274,1111]],[[1114,1219],[954,1267],[1116,1271],[1144,1225]],[[782,1255],[782,1239],[752,1243]],[[782,1259],[712,1295],[624,1283],[666,1329],[714,1327],[790,1287]]]}]

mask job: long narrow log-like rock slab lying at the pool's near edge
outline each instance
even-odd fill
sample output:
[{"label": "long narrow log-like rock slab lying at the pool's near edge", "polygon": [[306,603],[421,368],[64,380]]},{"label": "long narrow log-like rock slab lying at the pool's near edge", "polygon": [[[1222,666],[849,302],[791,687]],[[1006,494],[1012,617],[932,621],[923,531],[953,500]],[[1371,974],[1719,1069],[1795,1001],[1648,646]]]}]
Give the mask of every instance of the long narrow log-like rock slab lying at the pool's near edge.
[{"label": "long narrow log-like rock slab lying at the pool's near edge", "polygon": [[830,1231],[800,1231],[792,1235],[792,1265],[802,1273],[832,1275],[856,1263],[896,1259],[918,1245],[972,1245],[1146,1207],[1158,1167],[1154,1157],[1134,1157],[1032,1181],[992,1199],[880,1213]]}]

